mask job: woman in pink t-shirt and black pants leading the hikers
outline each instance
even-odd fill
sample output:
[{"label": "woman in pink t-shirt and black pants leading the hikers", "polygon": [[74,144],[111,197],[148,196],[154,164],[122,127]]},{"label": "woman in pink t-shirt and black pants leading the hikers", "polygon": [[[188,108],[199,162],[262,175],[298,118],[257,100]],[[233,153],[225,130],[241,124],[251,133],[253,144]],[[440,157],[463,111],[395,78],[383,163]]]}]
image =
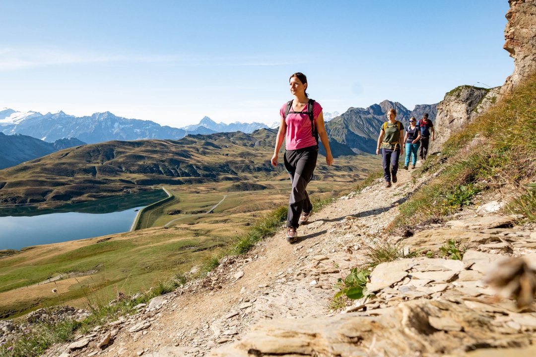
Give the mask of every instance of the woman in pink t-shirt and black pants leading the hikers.
[{"label": "woman in pink t-shirt and black pants leading the hikers", "polygon": [[297,72],[289,79],[294,99],[283,104],[279,110],[281,124],[277,133],[276,148],[272,156],[272,165],[277,166],[279,149],[285,140],[285,169],[291,182],[291,198],[288,202],[287,241],[297,241],[297,228],[308,222],[312,212],[306,188],[312,179],[318,157],[318,137],[326,150],[326,164],[333,164],[333,156],[324,127],[322,107],[309,99],[305,74]]}]

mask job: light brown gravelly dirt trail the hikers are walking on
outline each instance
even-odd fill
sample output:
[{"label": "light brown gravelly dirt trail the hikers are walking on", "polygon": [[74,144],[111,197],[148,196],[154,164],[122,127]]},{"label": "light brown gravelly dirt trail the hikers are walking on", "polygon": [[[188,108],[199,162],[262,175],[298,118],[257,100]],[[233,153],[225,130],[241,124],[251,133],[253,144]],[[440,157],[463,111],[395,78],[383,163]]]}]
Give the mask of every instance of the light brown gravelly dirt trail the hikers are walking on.
[{"label": "light brown gravelly dirt trail the hikers are walking on", "polygon": [[[111,324],[123,328],[113,331],[105,350],[95,346],[70,356],[204,356],[260,320],[330,314],[333,285],[362,259],[348,249],[359,251],[360,242],[374,239],[414,188],[410,172],[398,176],[391,188],[380,179],[314,212],[296,244],[281,230],[247,256],[224,259],[203,282],[153,299],[139,314]],[[139,323],[150,327],[134,331]]]}]

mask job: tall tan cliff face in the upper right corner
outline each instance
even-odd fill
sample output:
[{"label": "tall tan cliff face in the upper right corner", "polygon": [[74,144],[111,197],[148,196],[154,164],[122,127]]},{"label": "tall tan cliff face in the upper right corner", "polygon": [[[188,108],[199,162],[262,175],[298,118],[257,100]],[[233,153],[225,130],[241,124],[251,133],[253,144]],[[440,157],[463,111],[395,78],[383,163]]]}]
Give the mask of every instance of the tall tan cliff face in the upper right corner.
[{"label": "tall tan cliff face in the upper right corner", "polygon": [[509,0],[503,48],[513,58],[513,73],[501,87],[508,94],[524,78],[536,72],[536,0]]}]

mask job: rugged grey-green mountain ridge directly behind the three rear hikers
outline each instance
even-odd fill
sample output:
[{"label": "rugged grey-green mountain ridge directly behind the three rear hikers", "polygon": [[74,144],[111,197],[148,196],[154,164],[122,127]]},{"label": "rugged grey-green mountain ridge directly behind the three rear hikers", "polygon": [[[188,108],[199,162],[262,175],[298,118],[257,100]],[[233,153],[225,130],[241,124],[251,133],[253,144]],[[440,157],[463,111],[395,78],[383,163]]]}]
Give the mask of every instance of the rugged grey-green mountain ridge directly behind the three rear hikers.
[{"label": "rugged grey-green mountain ridge directly behind the three rear hikers", "polygon": [[375,153],[376,142],[381,125],[386,121],[390,108],[397,111],[397,119],[407,127],[411,117],[421,119],[423,113],[429,113],[429,119],[435,120],[437,104],[416,105],[410,111],[398,102],[383,101],[368,108],[350,108],[339,117],[326,123],[326,130],[331,141],[349,147],[354,153]]}]

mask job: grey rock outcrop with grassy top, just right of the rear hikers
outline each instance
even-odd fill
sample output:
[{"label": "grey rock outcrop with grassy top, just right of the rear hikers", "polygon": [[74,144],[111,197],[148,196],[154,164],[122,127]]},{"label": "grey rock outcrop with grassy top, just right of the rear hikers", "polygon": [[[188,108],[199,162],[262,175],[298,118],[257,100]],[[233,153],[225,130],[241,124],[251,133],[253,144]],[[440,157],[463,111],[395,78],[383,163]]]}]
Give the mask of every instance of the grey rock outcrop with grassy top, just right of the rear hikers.
[{"label": "grey rock outcrop with grassy top, just right of the rear hikers", "polygon": [[454,133],[471,123],[474,118],[492,106],[500,87],[491,89],[473,86],[459,86],[445,94],[437,104],[435,120],[435,141],[431,143],[431,153],[441,151],[443,143]]}]

